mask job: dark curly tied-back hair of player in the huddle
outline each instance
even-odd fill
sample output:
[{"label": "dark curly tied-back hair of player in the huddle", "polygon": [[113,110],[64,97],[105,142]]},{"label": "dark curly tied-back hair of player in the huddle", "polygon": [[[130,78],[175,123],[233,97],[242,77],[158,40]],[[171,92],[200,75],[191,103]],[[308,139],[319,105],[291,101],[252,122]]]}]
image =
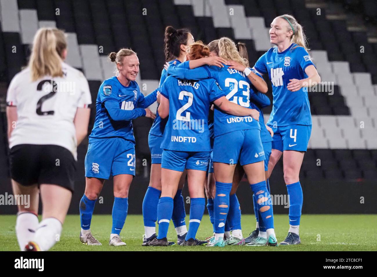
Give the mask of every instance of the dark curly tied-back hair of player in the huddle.
[{"label": "dark curly tied-back hair of player in the huddle", "polygon": [[179,56],[181,44],[187,43],[189,34],[189,29],[176,30],[172,26],[165,28],[164,52],[166,61],[171,61]]}]

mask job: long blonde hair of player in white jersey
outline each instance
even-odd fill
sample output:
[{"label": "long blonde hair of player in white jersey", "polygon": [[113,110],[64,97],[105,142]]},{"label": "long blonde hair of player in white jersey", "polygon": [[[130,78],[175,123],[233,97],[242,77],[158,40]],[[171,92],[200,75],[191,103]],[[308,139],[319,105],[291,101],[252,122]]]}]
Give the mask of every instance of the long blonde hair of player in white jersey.
[{"label": "long blonde hair of player in white jersey", "polygon": [[67,42],[63,31],[56,28],[40,28],[34,36],[29,60],[31,80],[43,76],[63,77],[61,57]]}]

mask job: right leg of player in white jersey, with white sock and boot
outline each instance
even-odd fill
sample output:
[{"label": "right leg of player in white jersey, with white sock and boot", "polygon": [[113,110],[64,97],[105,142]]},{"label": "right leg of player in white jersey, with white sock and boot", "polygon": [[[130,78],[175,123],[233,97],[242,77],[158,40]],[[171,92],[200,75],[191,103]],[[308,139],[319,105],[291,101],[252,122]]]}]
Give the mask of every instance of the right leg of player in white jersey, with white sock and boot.
[{"label": "right leg of player in white jersey, with white sock and boot", "polygon": [[58,185],[41,184],[40,194],[43,205],[42,221],[34,238],[26,245],[27,251],[48,251],[60,240],[72,192]]}]

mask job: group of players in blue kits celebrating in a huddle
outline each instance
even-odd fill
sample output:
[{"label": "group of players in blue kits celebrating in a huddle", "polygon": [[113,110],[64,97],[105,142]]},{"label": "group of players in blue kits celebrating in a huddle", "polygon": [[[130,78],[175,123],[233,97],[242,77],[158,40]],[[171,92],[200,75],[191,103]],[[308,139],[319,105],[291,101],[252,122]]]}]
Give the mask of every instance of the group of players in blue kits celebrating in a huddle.
[{"label": "group of players in blue kits celebrating in a huddle", "polygon": [[[115,199],[109,244],[126,245],[120,232],[135,176],[132,119],[147,116],[154,122],[149,132],[152,165],[143,201],[142,245],[175,244],[167,239],[172,220],[177,244],[182,246],[278,246],[268,178],[283,153],[290,229],[280,245],[300,243],[299,171],[311,133],[303,83],[320,78],[307,58],[302,27],[291,15],[273,20],[270,39],[276,47],[250,68],[245,44],[236,45],[223,37],[205,45],[195,42],[187,29],[168,26],[164,43],[169,63],[162,70],[159,87],[145,97],[135,81],[139,72],[136,53],[121,49],[109,55],[118,73],[105,80],[98,91],[85,158],[86,188],[80,201],[81,242],[101,245],[93,237],[90,223],[104,181],[113,176]],[[262,109],[270,105],[270,99],[265,95],[268,88],[261,74],[268,74],[273,85],[273,110],[267,125]],[[156,115],[147,109],[155,101],[159,104]],[[244,174],[253,193],[257,220],[256,230],[247,238],[242,236],[236,196]],[[186,176],[190,194],[188,230],[181,195]],[[196,233],[205,210],[204,194],[213,236],[199,240]],[[27,248],[48,250],[52,245],[32,240]]]}]

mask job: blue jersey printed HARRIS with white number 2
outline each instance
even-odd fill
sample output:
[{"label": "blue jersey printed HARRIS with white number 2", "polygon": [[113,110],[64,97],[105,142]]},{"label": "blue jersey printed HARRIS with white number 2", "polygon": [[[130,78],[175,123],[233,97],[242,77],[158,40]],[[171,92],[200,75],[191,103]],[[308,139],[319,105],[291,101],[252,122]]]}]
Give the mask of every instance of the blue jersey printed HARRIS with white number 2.
[{"label": "blue jersey printed HARRIS with white number 2", "polygon": [[210,104],[225,96],[219,84],[213,79],[195,82],[169,76],[160,92],[169,99],[170,115],[161,148],[185,152],[210,152]]}]

